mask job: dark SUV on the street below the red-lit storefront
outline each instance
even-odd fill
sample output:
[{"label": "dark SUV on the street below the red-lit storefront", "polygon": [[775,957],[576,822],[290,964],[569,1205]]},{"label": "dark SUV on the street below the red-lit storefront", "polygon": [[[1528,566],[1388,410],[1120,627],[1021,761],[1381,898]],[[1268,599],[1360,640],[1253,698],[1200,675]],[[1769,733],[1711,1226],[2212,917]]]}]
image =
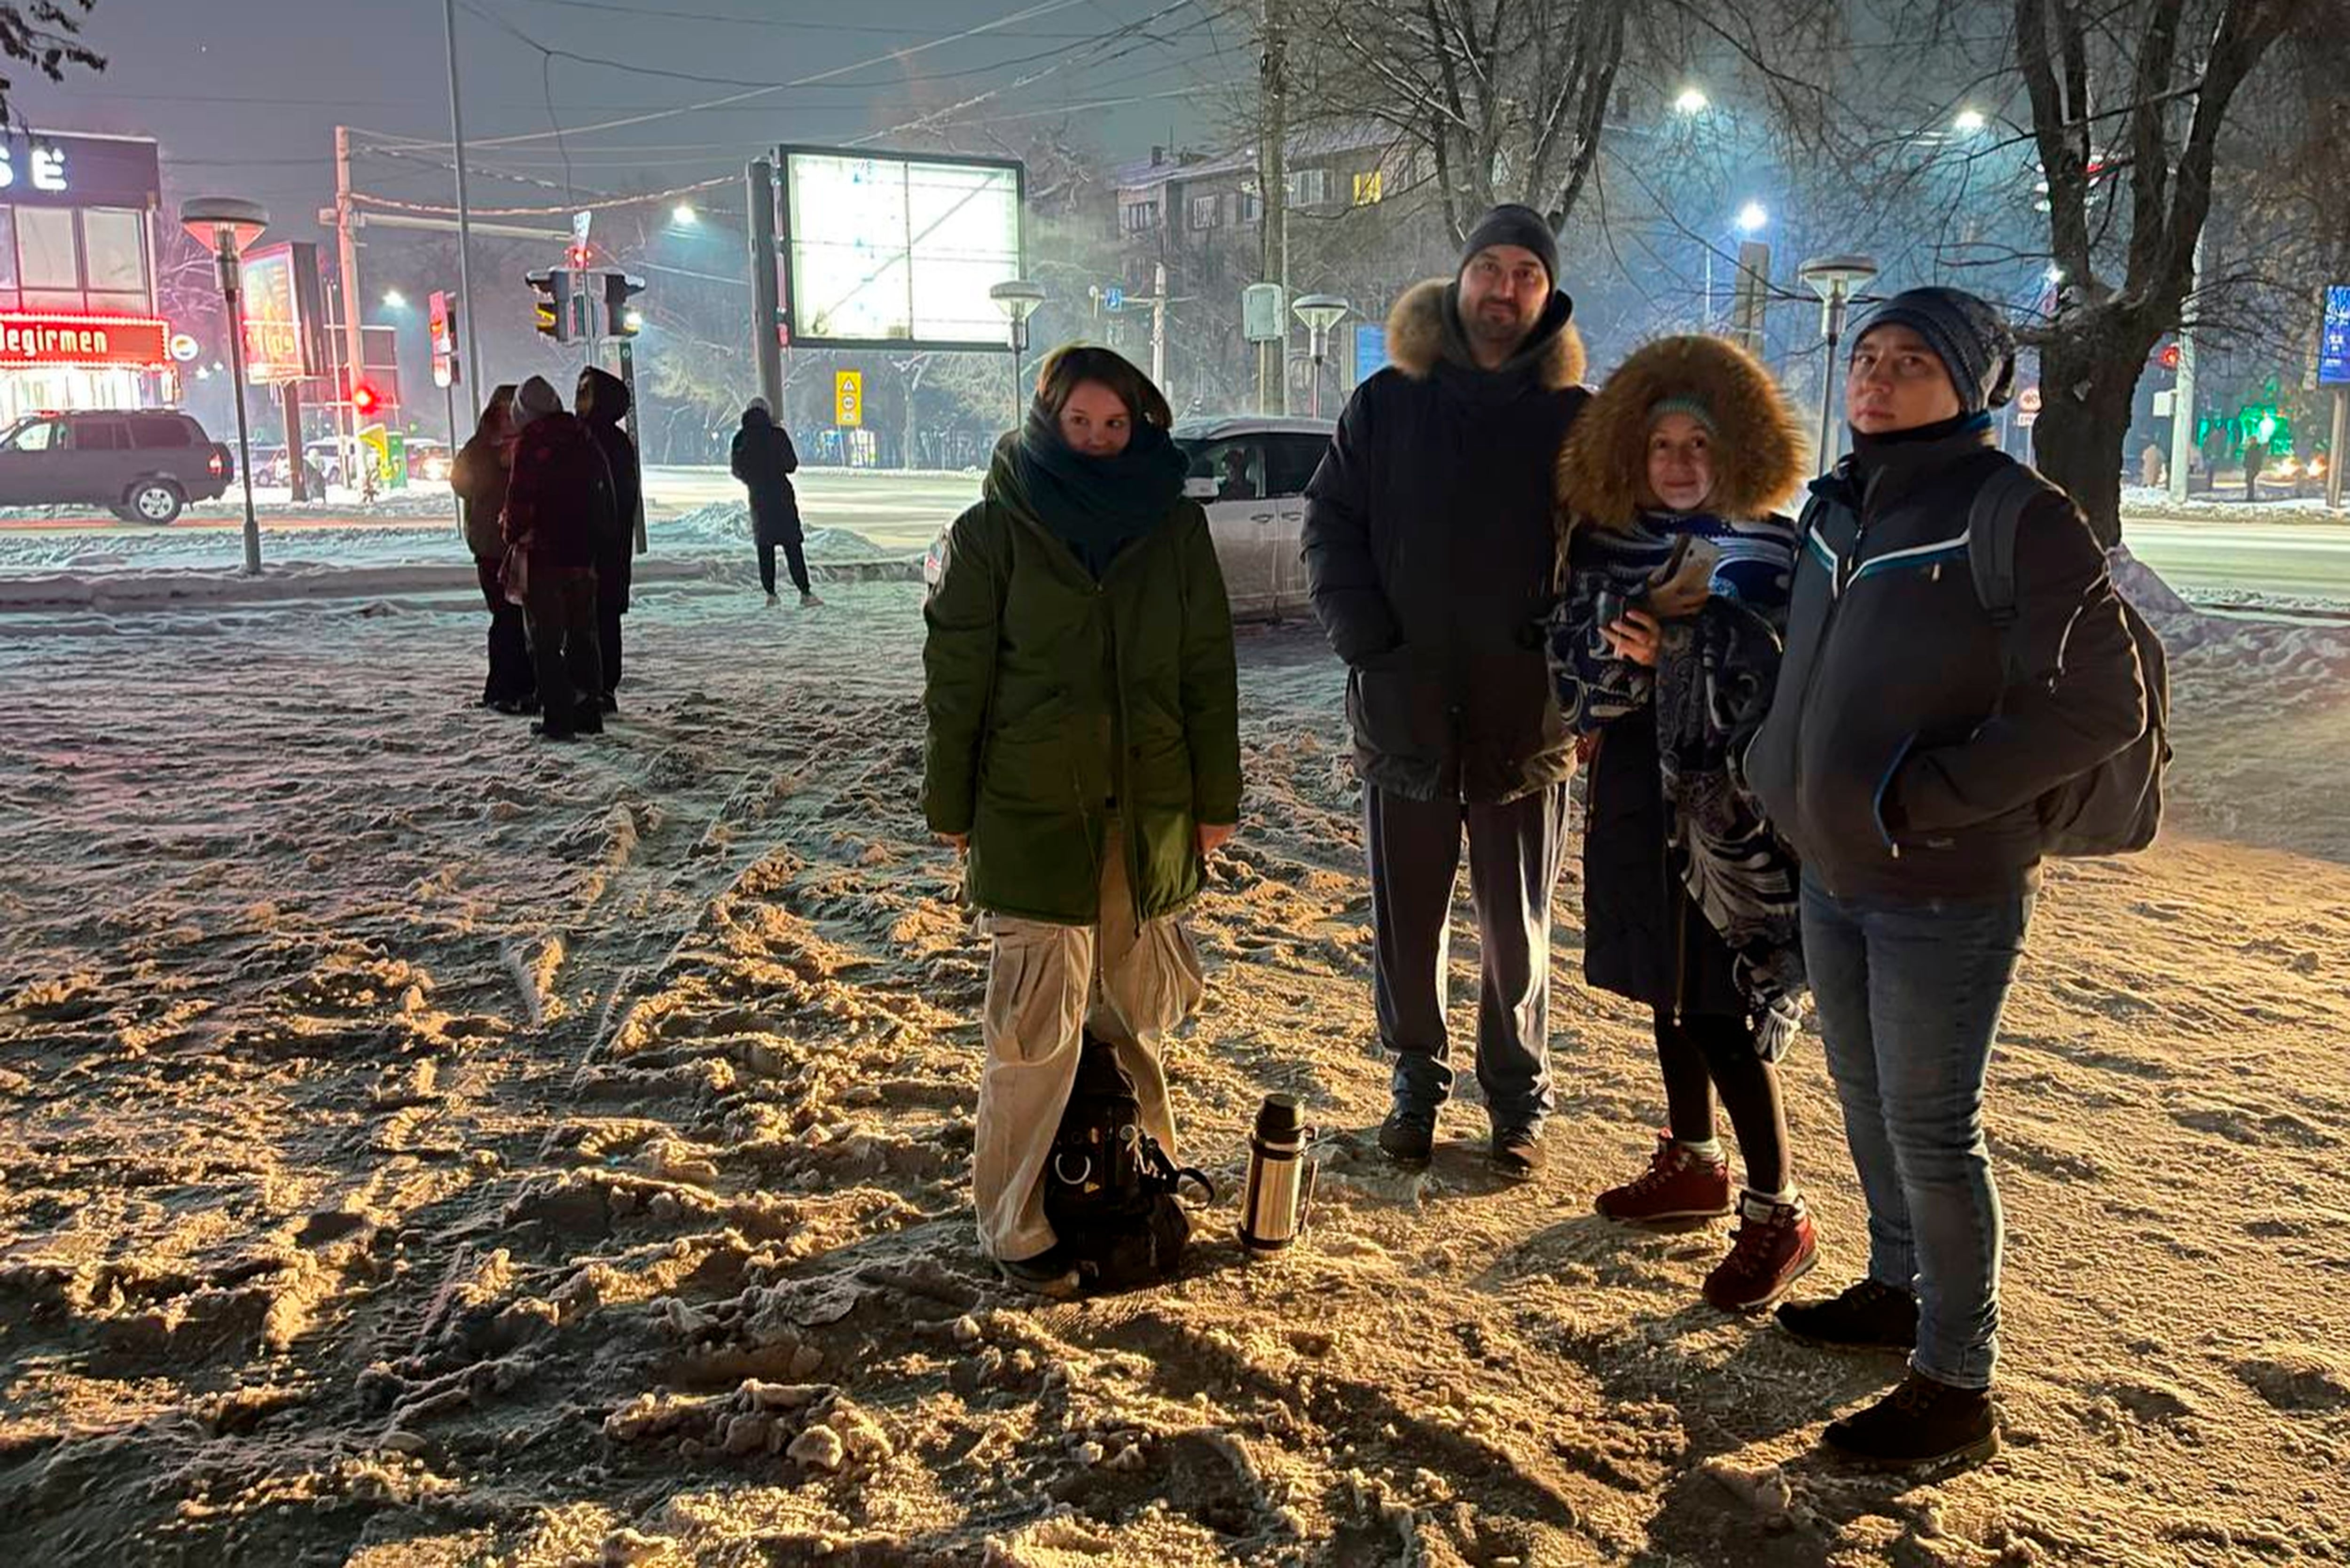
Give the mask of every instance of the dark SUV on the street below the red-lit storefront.
[{"label": "dark SUV on the street below the red-lit storefront", "polygon": [[33,414],[0,430],[0,505],[103,505],[172,522],[228,491],[237,458],[172,409]]}]

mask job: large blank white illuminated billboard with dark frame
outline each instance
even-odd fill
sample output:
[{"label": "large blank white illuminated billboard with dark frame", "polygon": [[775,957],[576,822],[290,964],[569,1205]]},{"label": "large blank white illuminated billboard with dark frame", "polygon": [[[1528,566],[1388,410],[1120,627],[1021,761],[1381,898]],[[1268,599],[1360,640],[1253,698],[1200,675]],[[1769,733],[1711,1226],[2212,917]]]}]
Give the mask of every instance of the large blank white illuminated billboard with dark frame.
[{"label": "large blank white illuminated billboard with dark frame", "polygon": [[778,148],[785,341],[811,348],[1008,348],[987,296],[1022,275],[1022,167]]}]

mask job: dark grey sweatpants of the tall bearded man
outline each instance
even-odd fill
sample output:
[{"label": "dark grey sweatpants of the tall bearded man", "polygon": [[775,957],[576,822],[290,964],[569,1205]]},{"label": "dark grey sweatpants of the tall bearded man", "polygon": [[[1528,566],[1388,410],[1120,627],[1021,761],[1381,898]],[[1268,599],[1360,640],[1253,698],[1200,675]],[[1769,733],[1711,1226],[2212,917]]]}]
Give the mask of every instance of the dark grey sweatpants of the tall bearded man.
[{"label": "dark grey sweatpants of the tall bearded man", "polygon": [[1567,785],[1506,806],[1365,785],[1379,1041],[1396,1053],[1396,1110],[1434,1119],[1452,1095],[1445,969],[1464,832],[1483,959],[1476,1081],[1495,1131],[1532,1131],[1551,1114],[1551,891],[1565,858]]}]

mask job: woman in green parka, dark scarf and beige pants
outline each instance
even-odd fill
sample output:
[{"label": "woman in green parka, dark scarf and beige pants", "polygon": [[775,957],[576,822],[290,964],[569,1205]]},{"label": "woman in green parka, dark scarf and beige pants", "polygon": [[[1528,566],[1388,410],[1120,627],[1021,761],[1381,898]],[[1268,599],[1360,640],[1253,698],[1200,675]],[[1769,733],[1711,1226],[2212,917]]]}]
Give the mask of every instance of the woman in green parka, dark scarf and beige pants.
[{"label": "woman in green parka, dark scarf and beige pants", "polygon": [[1076,1291],[1043,1164],[1086,1032],[1175,1157],[1159,1046],[1203,994],[1177,914],[1241,816],[1231,607],[1170,423],[1112,350],[1053,353],[924,607],[921,804],[994,943],[980,1241],[1046,1295]]}]

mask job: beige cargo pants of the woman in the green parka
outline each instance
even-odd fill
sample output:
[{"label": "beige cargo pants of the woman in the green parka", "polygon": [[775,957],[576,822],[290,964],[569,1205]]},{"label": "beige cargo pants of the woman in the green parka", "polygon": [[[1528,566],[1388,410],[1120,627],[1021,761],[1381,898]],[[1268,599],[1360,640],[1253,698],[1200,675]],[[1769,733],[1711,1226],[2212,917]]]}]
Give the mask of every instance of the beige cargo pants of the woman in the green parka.
[{"label": "beige cargo pants of the woman in the green parka", "polygon": [[1076,1084],[1083,1030],[1119,1051],[1135,1081],[1142,1131],[1175,1159],[1175,1117],[1159,1044],[1201,1004],[1208,985],[1191,938],[1175,917],[1135,924],[1126,891],[1126,839],[1116,818],[1102,832],[1102,917],[1093,926],[989,914],[994,940],[980,1037],[980,1117],[971,1192],[980,1246],[1022,1260],[1053,1246],[1043,1220],[1043,1166],[1060,1112]]}]

